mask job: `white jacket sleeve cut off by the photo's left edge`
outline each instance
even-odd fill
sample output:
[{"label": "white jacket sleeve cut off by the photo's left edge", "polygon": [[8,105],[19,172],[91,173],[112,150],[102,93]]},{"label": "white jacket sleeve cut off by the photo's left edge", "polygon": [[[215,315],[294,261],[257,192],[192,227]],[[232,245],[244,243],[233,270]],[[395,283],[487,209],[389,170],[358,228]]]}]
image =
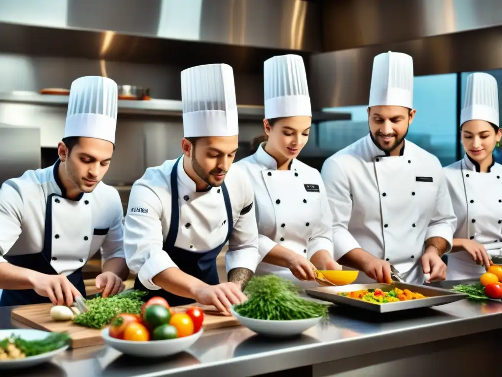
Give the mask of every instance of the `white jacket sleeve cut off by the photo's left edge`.
[{"label": "white jacket sleeve cut off by the photo's left edge", "polygon": [[0,263],[21,235],[24,203],[17,185],[6,181],[0,188]]}]

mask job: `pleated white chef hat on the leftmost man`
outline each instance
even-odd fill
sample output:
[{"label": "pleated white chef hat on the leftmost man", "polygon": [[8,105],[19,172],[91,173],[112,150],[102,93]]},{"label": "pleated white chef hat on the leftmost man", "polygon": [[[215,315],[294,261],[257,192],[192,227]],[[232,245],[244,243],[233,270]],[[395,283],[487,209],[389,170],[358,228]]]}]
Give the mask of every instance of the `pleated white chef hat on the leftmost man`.
[{"label": "pleated white chef hat on the leftmost man", "polygon": [[84,76],[71,83],[64,137],[82,136],[115,143],[117,84],[110,78]]}]

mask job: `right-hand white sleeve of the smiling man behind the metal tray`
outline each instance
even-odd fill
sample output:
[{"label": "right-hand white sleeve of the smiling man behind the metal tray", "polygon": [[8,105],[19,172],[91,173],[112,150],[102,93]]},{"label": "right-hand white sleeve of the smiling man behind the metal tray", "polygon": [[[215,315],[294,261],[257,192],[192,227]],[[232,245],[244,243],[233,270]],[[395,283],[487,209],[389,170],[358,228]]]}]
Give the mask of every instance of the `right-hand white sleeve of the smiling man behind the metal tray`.
[{"label": "right-hand white sleeve of the smiling man behind the metal tray", "polygon": [[444,170],[439,175],[439,190],[436,196],[434,213],[425,232],[425,239],[441,237],[448,242],[445,253],[450,252],[453,246],[453,233],[457,227],[457,217],[453,210],[448,184]]}]

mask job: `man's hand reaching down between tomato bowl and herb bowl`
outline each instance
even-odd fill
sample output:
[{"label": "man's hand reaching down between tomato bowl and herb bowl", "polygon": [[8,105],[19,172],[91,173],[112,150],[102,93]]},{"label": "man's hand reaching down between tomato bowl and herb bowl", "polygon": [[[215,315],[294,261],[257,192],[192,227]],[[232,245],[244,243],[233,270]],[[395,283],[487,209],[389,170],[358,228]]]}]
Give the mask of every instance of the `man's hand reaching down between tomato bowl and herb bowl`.
[{"label": "man's hand reaching down between tomato bowl and herb bowl", "polygon": [[216,286],[204,286],[194,291],[195,301],[203,305],[214,305],[225,316],[230,315],[232,305],[247,301],[239,287],[233,282],[225,282]]}]

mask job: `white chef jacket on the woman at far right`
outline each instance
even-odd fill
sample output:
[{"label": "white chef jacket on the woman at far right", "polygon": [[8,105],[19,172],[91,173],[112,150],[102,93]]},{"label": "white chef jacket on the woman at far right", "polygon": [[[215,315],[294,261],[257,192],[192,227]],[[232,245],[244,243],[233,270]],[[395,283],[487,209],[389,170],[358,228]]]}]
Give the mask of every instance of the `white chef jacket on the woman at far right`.
[{"label": "white chef jacket on the woman at far right", "polygon": [[[488,254],[502,248],[502,165],[493,163],[485,173],[467,154],[444,168],[458,222],[454,238],[484,245]],[[448,280],[478,278],[486,272],[466,251],[448,254]]]}]

